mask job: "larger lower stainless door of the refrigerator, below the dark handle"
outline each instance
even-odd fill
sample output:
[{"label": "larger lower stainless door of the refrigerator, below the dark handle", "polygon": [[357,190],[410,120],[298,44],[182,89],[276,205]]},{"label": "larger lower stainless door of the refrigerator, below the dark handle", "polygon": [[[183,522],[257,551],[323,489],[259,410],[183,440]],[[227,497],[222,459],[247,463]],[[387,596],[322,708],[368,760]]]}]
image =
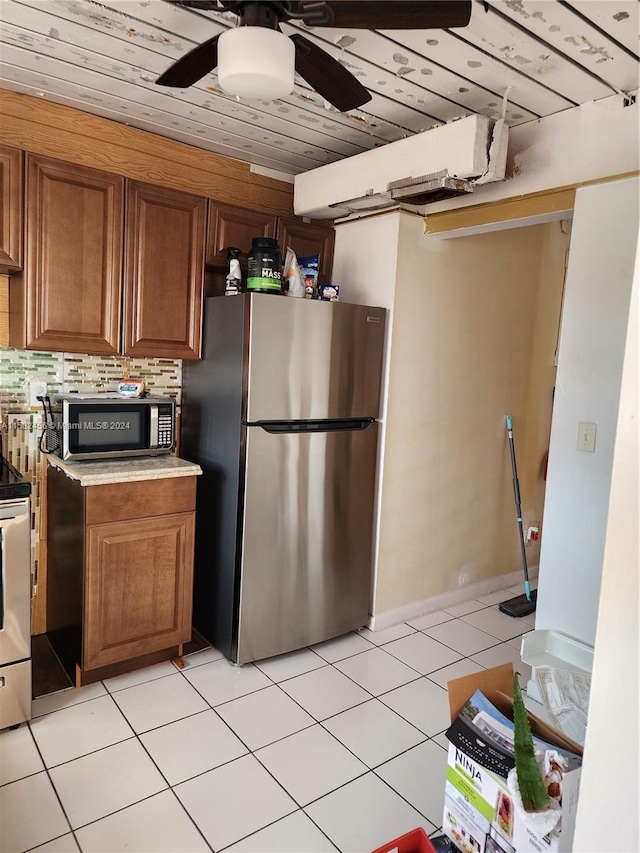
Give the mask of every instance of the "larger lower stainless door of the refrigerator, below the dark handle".
[{"label": "larger lower stainless door of the refrigerator, below the dark handle", "polygon": [[246,432],[238,664],[366,624],[378,430]]}]

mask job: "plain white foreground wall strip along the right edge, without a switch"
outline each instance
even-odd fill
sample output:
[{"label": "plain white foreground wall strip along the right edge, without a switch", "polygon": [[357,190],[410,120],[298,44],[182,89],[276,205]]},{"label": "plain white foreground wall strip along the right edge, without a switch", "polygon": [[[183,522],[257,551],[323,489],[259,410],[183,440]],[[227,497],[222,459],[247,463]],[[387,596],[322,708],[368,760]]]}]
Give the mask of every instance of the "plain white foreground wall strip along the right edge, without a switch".
[{"label": "plain white foreground wall strip along the right edge, without a switch", "polygon": [[640,850],[639,259],[629,317],[574,850]]}]

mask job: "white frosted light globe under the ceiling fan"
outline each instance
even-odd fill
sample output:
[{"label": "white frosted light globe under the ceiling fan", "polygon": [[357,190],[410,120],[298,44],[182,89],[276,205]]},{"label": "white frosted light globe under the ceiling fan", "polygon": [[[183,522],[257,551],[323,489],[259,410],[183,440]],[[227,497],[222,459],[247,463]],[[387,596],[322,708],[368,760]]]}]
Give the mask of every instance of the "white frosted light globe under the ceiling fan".
[{"label": "white frosted light globe under the ceiling fan", "polygon": [[293,91],[295,47],[265,27],[236,27],[218,40],[218,81],[241,98],[284,98]]}]

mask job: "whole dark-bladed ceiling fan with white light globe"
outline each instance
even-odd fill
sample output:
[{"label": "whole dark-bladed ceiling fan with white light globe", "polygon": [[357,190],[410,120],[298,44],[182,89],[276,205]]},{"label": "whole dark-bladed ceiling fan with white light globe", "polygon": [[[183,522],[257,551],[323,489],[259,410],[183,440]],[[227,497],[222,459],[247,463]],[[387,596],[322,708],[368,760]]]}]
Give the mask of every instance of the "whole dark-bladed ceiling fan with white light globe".
[{"label": "whole dark-bladed ceiling fan with white light globe", "polygon": [[156,80],[185,89],[214,68],[225,92],[245,98],[283,98],[297,72],[341,112],[371,100],[370,93],[338,60],[281,22],[366,30],[465,27],[471,0],[167,0],[187,9],[233,12],[238,26],[189,51]]}]

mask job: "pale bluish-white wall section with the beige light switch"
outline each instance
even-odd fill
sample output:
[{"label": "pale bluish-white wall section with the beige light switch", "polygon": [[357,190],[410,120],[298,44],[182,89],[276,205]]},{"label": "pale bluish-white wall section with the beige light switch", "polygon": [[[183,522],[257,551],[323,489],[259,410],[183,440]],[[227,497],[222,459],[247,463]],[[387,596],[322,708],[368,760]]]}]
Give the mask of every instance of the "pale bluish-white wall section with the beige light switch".
[{"label": "pale bluish-white wall section with the beige light switch", "polygon": [[[540,553],[536,628],[595,641],[620,385],[638,239],[637,178],[578,191]],[[578,423],[597,424],[595,453]]]}]

